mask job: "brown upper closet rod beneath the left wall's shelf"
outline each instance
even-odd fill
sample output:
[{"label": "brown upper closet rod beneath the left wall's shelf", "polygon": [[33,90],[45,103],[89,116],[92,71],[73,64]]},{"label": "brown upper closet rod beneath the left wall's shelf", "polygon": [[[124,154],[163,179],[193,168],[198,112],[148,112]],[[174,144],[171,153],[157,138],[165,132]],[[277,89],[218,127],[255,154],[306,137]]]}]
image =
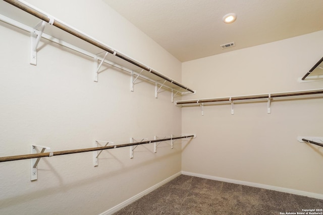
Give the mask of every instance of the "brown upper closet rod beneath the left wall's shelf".
[{"label": "brown upper closet rod beneath the left wall's shelf", "polygon": [[[17,0],[4,0],[4,1],[11,4],[11,5],[13,5],[13,6],[15,6],[15,7],[17,7],[17,8],[19,8],[19,9],[21,9],[21,10],[23,10],[23,11],[25,11],[25,12],[27,12],[27,13],[29,13],[29,14],[31,14],[31,15],[33,15],[33,16],[35,16],[35,17],[37,17],[37,18],[39,18],[39,19],[41,19],[41,20],[43,20],[43,21],[45,21],[45,22],[47,22],[47,23],[49,23],[49,21],[50,21],[50,18],[47,17],[47,15],[45,15],[45,14],[43,14],[43,13],[41,13],[41,12],[39,12],[39,11],[37,11],[37,10],[35,10],[35,9],[33,9],[33,8],[27,6],[27,5],[25,5],[25,4],[23,4],[23,3],[19,2],[19,1],[17,1]],[[84,41],[98,47],[98,48],[101,48],[104,51],[107,51],[107,52],[109,52],[111,54],[114,54],[114,55],[116,55],[116,56],[118,56],[118,57],[120,57],[120,58],[134,64],[134,65],[136,65],[136,66],[139,66],[140,68],[145,69],[146,71],[149,71],[150,73],[154,74],[155,76],[158,76],[159,78],[162,78],[162,79],[164,79],[164,80],[166,80],[166,81],[168,81],[168,82],[170,82],[170,83],[172,83],[172,84],[174,84],[176,86],[179,86],[179,87],[181,87],[181,88],[183,88],[183,89],[185,89],[187,91],[190,91],[190,92],[194,93],[194,91],[192,89],[189,89],[188,87],[185,87],[184,85],[182,85],[182,84],[180,84],[180,83],[178,83],[178,82],[176,82],[176,81],[174,81],[174,80],[172,80],[172,79],[170,79],[170,78],[168,78],[168,77],[166,77],[164,75],[161,75],[160,73],[158,73],[157,71],[149,68],[148,66],[143,65],[142,63],[139,63],[136,60],[131,59],[130,57],[128,57],[128,56],[126,56],[126,55],[124,55],[122,53],[116,52],[112,48],[105,46],[104,44],[102,44],[102,43],[100,43],[100,42],[98,42],[98,41],[96,41],[96,40],[94,40],[94,39],[92,39],[92,38],[78,32],[78,31],[76,31],[76,30],[74,30],[74,29],[72,29],[72,28],[70,28],[70,27],[68,27],[66,25],[64,25],[63,23],[61,23],[61,22],[59,22],[57,20],[54,20],[52,25],[62,29],[63,31],[66,31],[66,32],[68,32],[68,33],[70,33],[70,34],[72,34],[72,35],[74,35],[74,36],[76,36],[76,37],[78,37],[78,38],[80,38],[80,39],[82,39],[82,40],[84,40]]]}]

